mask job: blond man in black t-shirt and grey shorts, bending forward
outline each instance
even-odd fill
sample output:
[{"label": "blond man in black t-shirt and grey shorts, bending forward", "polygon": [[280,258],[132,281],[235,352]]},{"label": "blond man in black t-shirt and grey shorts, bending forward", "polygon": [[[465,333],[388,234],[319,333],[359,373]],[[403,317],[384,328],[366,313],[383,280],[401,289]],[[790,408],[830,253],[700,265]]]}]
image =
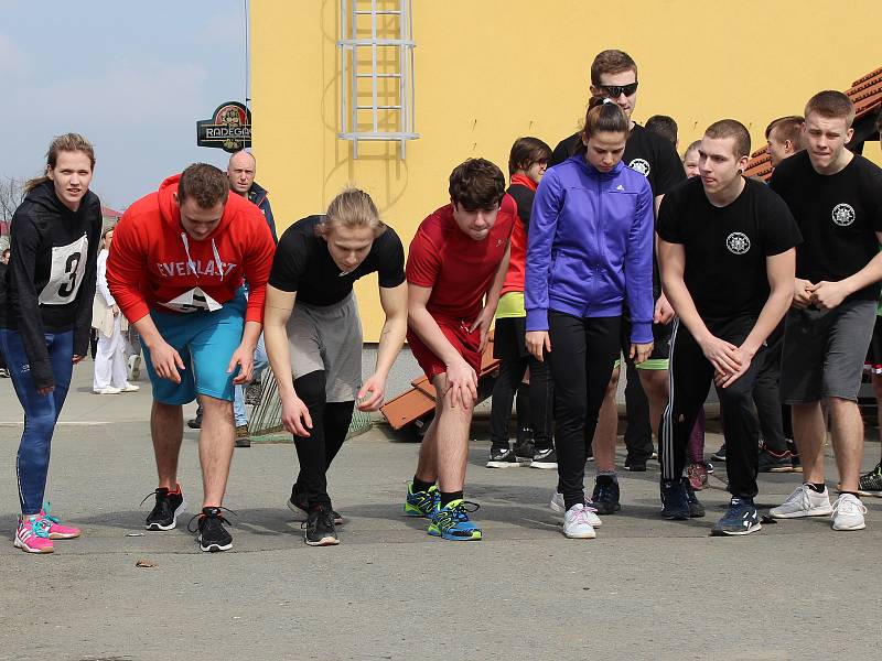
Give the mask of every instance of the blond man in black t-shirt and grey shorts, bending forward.
[{"label": "blond man in black t-shirt and grey shorts, bending forward", "polygon": [[[362,384],[362,323],[353,283],[377,272],[386,313],[377,365]],[[294,435],[300,475],[288,507],[306,513],[305,541],[337,544],[327,468],[359,411],[377,411],[386,378],[407,333],[405,250],[363,191],[337,195],[324,216],[289,227],[272,262],[263,336],[282,403],[282,424]],[[366,398],[366,399],[363,399]]]}]

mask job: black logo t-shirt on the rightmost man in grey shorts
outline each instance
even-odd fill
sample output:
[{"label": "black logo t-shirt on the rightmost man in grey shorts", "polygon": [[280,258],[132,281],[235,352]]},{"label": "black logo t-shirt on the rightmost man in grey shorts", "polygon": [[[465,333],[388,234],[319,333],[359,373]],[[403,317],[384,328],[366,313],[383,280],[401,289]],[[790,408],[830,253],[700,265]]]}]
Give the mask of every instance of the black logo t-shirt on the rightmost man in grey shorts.
[{"label": "black logo t-shirt on the rightmost man in grey shorts", "polygon": [[[882,169],[854,154],[840,172],[819,174],[803,151],[781,162],[770,186],[790,207],[805,237],[796,251],[797,278],[836,282],[875,257],[875,232],[882,231]],[[878,283],[849,296],[878,297]]]}]

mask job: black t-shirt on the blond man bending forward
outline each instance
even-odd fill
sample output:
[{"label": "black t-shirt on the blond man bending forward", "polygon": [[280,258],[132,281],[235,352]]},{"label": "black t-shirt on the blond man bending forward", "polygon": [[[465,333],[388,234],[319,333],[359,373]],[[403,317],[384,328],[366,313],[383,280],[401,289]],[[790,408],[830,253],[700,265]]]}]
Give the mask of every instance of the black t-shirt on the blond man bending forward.
[{"label": "black t-shirt on the blond man bending forward", "polygon": [[315,236],[324,216],[309,216],[284,230],[272,260],[269,283],[283,292],[297,292],[309,305],[333,305],[345,299],[353,283],[377,272],[379,285],[391,289],[405,281],[405,248],[391,227],[374,239],[358,267],[343,273],[327,251],[327,241]]}]

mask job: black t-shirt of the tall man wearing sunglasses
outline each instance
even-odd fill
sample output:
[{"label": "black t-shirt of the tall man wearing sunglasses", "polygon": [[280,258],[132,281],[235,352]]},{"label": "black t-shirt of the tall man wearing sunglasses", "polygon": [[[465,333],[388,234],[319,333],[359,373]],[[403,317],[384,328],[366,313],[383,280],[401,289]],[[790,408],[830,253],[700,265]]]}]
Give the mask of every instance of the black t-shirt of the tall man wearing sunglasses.
[{"label": "black t-shirt of the tall man wearing sunglasses", "polygon": [[[579,133],[561,140],[555,148],[548,166],[552,167],[573,155],[581,140]],[[622,162],[649,181],[653,195],[665,195],[686,178],[686,172],[674,145],[638,123],[634,124],[627,137]]]}]

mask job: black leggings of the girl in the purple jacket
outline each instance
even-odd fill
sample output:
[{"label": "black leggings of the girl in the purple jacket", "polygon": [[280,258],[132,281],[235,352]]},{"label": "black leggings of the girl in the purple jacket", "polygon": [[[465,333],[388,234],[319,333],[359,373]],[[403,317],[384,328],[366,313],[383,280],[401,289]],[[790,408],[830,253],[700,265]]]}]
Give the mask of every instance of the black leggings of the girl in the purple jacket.
[{"label": "black leggings of the girl in the purple jacket", "polygon": [[598,412],[619,356],[621,317],[582,318],[548,312],[555,384],[558,490],[567,509],[584,500],[585,459]]}]

